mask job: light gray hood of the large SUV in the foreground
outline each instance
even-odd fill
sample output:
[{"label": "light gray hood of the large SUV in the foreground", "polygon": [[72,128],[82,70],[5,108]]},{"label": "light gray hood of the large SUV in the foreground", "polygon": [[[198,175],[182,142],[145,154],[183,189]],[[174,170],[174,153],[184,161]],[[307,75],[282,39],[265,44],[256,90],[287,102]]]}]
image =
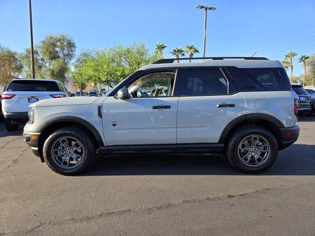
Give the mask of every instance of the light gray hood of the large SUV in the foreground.
[{"label": "light gray hood of the large SUV in the foreground", "polygon": [[[88,105],[101,97],[64,97],[44,99],[33,103],[30,107],[50,107],[50,106],[70,106],[70,105]],[[104,98],[104,97],[103,97]]]}]

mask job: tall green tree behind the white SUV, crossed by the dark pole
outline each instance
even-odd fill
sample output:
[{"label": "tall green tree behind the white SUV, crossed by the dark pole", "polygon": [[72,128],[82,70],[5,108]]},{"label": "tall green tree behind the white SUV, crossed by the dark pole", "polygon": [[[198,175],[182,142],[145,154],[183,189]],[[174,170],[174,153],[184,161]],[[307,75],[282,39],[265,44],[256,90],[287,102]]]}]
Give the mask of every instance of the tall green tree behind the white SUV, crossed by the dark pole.
[{"label": "tall green tree behind the white SUV, crossed by the dark pole", "polygon": [[[66,34],[46,36],[34,47],[35,77],[64,82],[70,62],[75,56],[75,48],[74,41]],[[32,77],[31,50],[25,49],[20,59],[24,65],[24,76]]]}]

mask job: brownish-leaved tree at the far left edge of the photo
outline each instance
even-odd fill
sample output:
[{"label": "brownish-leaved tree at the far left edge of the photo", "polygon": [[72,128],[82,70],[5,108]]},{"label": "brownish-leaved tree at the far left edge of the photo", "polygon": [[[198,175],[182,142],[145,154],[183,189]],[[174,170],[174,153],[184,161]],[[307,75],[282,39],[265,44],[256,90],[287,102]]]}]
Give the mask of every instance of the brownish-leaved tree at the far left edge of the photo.
[{"label": "brownish-leaved tree at the far left edge of the photo", "polygon": [[0,85],[6,87],[22,72],[23,65],[18,54],[0,45]]}]

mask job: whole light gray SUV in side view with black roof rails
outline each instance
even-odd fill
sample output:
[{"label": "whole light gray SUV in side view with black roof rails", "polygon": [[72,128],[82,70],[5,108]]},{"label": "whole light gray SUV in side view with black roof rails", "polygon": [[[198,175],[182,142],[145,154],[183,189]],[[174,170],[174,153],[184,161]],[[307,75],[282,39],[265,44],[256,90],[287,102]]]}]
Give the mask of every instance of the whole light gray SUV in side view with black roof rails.
[{"label": "whole light gray SUV in side view with black roof rails", "polygon": [[[24,137],[63,175],[101,155],[223,153],[246,173],[272,166],[299,135],[297,95],[279,61],[161,59],[102,97],[30,105]],[[151,96],[139,91],[159,89]]]}]

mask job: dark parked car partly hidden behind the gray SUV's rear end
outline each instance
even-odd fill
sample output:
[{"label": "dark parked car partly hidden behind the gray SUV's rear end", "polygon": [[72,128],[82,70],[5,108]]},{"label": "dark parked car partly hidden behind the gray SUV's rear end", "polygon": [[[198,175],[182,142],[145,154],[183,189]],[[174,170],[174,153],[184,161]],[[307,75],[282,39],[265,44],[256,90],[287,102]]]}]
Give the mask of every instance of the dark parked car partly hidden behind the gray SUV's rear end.
[{"label": "dark parked car partly hidden behind the gray SUV's rear end", "polygon": [[298,105],[297,110],[299,114],[303,116],[310,116],[312,112],[312,100],[311,95],[302,87],[302,85],[292,84],[292,90],[298,95]]}]

